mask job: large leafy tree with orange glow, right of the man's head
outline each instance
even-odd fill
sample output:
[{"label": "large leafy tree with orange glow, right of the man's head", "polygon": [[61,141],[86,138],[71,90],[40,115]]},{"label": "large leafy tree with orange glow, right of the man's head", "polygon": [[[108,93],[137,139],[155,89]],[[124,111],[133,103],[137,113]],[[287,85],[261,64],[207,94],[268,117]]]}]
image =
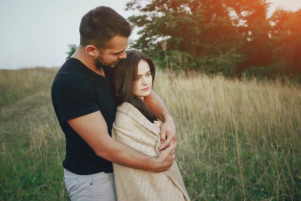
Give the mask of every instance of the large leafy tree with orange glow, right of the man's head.
[{"label": "large leafy tree with orange glow, right of the man's head", "polygon": [[214,58],[241,43],[241,34],[224,2],[157,0],[143,7],[141,1],[131,1],[127,9],[141,13],[128,19],[141,28],[140,38],[131,45],[162,59],[160,41],[166,40],[170,62],[178,65],[185,61],[185,69],[205,70]]}]

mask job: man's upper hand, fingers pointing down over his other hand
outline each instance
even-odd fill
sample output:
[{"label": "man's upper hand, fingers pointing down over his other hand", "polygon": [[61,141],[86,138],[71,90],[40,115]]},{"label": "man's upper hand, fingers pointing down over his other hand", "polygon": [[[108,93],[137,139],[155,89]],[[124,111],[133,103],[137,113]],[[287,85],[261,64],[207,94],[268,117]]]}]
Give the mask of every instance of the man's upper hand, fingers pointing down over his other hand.
[{"label": "man's upper hand, fingers pointing down over his other hand", "polygon": [[174,120],[171,118],[170,120],[165,121],[160,130],[160,139],[163,145],[159,148],[159,151],[164,150],[170,144],[173,144],[175,147],[174,151],[171,153],[173,155],[177,148],[177,132]]}]

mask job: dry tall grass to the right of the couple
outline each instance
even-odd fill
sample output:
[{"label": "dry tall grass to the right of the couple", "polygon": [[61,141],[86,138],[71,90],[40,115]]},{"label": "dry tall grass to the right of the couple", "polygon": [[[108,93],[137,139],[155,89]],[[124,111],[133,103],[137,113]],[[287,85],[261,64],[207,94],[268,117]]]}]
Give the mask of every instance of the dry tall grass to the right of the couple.
[{"label": "dry tall grass to the right of the couple", "polygon": [[279,81],[158,76],[192,197],[301,199],[301,91]]}]

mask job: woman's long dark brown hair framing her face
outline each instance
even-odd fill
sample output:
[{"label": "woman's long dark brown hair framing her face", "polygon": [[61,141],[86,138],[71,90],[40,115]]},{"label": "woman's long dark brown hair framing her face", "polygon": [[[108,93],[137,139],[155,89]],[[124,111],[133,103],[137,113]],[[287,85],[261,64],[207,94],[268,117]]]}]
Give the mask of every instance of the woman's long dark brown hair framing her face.
[{"label": "woman's long dark brown hair framing her face", "polygon": [[152,59],[137,50],[126,51],[126,59],[121,59],[114,67],[114,93],[116,105],[130,103],[138,109],[150,122],[157,121],[154,113],[144,104],[143,100],[134,95],[134,85],[138,63],[144,60],[148,63],[153,84],[155,78],[155,65]]}]

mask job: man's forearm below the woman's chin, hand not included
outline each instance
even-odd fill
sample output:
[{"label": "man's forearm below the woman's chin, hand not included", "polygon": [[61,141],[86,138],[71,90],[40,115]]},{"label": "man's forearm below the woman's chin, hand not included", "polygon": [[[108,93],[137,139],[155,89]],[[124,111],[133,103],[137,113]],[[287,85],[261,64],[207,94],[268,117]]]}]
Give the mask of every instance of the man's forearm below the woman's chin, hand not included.
[{"label": "man's forearm below the woman's chin, hand not included", "polygon": [[174,121],[163,100],[153,90],[148,96],[144,97],[144,101],[158,119],[163,122]]}]

